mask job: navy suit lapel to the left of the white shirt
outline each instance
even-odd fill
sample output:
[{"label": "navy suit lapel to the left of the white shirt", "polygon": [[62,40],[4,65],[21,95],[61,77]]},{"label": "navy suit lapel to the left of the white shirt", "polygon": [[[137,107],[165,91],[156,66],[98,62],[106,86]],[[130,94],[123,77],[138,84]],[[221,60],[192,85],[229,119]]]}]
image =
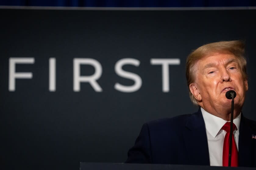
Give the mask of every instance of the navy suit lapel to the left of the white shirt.
[{"label": "navy suit lapel to the left of the white shirt", "polygon": [[200,108],[197,113],[188,117],[183,137],[187,149],[188,164],[210,165],[207,135]]}]

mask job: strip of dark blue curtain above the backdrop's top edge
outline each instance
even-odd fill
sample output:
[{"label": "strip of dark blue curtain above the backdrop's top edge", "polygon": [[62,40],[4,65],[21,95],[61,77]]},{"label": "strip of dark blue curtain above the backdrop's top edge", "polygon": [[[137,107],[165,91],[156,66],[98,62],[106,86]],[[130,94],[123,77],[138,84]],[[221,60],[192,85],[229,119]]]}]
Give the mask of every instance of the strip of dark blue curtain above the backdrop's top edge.
[{"label": "strip of dark blue curtain above the backdrop's top edge", "polygon": [[255,6],[255,0],[1,0],[0,5],[72,7],[219,7]]}]

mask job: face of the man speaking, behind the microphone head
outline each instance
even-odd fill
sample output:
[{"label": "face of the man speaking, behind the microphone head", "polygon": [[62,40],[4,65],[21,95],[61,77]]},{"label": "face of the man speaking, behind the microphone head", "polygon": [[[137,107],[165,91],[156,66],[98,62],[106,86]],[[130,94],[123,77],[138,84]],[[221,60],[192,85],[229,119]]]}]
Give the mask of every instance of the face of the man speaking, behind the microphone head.
[{"label": "face of the man speaking, behind the microphone head", "polygon": [[[204,57],[195,65],[197,100],[205,110],[216,111],[231,106],[231,100],[226,98],[226,92],[236,92],[235,108],[242,108],[245,92],[248,90],[247,80],[244,80],[237,58],[230,53],[213,53]],[[194,94],[194,93],[193,93]],[[213,112],[212,111],[212,112]],[[219,113],[220,114],[220,113]]]}]

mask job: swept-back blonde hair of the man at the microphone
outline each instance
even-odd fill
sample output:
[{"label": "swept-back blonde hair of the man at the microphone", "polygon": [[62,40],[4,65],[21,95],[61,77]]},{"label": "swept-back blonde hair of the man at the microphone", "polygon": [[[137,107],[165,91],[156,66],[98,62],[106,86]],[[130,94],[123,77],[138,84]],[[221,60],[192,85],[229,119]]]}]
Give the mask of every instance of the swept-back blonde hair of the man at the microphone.
[{"label": "swept-back blonde hair of the man at the microphone", "polygon": [[[190,83],[194,83],[195,81],[195,71],[194,66],[196,65],[197,61],[202,59],[203,57],[209,56],[212,53],[231,53],[238,59],[238,64],[240,66],[242,75],[244,80],[248,79],[246,73],[246,58],[244,56],[244,42],[240,40],[234,41],[220,41],[220,42],[213,42],[209,44],[205,44],[195,50],[193,50],[189,56],[187,57],[186,62],[186,78],[187,78],[187,86],[189,87]],[[192,103],[196,106],[197,100],[194,95],[189,90],[189,96]]]}]

